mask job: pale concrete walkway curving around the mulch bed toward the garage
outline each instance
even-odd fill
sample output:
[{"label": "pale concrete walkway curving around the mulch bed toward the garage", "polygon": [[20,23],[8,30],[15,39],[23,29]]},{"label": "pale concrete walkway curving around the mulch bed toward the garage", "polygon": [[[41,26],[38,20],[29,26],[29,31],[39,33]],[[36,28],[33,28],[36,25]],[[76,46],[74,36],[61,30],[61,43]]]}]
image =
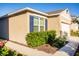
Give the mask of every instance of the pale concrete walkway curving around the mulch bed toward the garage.
[{"label": "pale concrete walkway curving around the mulch bed toward the garage", "polygon": [[8,41],[5,46],[16,50],[17,52],[23,54],[23,55],[29,55],[29,56],[73,56],[76,52],[76,49],[78,48],[79,44],[79,38],[78,37],[70,37],[68,39],[69,43],[65,45],[63,48],[58,50],[55,54],[48,54],[43,51],[39,51],[37,49],[32,49],[20,44],[16,44],[13,42]]}]

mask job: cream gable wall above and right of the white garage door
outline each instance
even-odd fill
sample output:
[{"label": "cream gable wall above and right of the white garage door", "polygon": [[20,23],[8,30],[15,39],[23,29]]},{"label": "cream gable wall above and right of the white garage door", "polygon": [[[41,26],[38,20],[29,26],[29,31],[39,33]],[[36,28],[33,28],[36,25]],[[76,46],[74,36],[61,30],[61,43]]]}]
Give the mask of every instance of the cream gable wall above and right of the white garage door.
[{"label": "cream gable wall above and right of the white garage door", "polygon": [[[66,9],[66,10],[68,10],[68,9]],[[69,11],[66,12],[66,10],[64,10],[63,12],[61,12],[61,14],[60,14],[60,19],[61,20],[60,21],[61,21],[61,23],[69,25],[69,31],[67,33],[68,33],[68,36],[70,36],[70,26],[71,26],[71,20],[72,19],[71,19]]]}]

